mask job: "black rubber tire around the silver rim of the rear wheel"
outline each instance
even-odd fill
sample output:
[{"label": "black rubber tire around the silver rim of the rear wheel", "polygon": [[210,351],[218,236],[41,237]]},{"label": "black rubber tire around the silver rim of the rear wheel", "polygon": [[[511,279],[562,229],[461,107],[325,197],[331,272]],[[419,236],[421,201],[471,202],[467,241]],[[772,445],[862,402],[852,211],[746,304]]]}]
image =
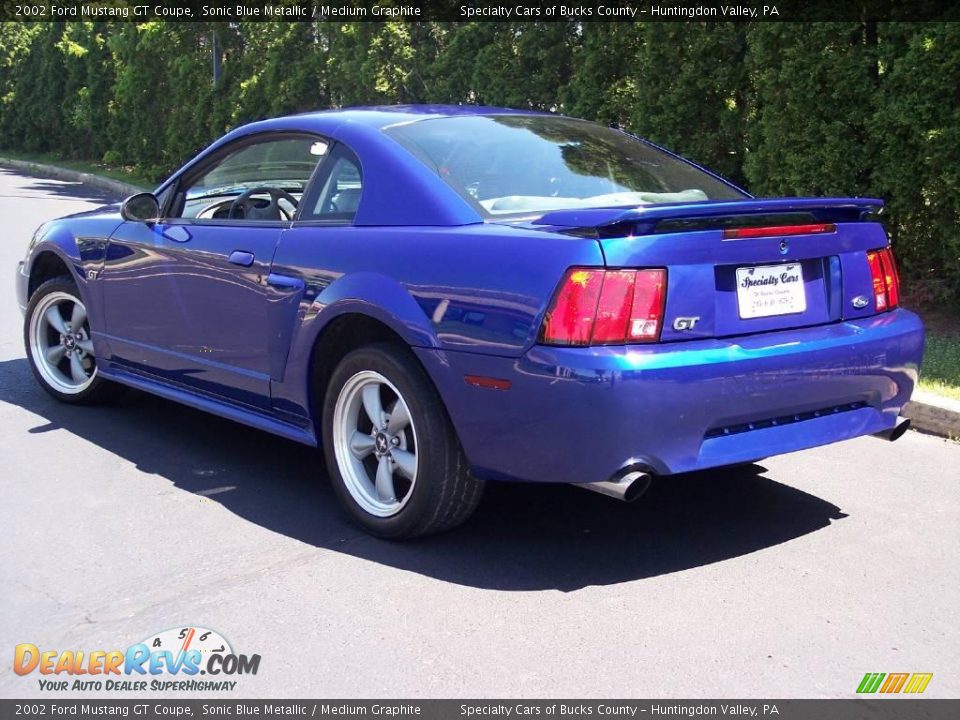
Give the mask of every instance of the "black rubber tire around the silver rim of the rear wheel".
[{"label": "black rubber tire around the silver rim of the rear wheel", "polygon": [[[370,371],[382,375],[399,391],[409,409],[411,427],[416,428],[416,480],[405,504],[389,517],[368,512],[351,494],[335,449],[334,417],[341,392],[351,378]],[[321,432],[333,489],[350,517],[372,535],[402,539],[448,530],[464,522],[480,502],[484,483],[469,474],[436,388],[405,348],[370,345],[344,357],[327,386]]]}]

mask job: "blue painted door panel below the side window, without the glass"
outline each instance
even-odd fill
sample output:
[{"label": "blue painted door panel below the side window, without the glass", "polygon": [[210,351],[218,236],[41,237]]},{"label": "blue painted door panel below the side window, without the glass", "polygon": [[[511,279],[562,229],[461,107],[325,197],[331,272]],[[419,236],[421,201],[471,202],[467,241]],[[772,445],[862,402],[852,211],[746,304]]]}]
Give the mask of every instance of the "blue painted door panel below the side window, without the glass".
[{"label": "blue painted door panel below the side window, without the glass", "polygon": [[[263,282],[281,227],[125,223],[100,270],[110,357],[163,379],[270,406],[274,328],[293,324],[296,290]],[[123,242],[115,240],[122,236]],[[253,264],[229,262],[235,250]],[[291,295],[293,298],[291,298]],[[185,362],[185,358],[197,362]]]}]

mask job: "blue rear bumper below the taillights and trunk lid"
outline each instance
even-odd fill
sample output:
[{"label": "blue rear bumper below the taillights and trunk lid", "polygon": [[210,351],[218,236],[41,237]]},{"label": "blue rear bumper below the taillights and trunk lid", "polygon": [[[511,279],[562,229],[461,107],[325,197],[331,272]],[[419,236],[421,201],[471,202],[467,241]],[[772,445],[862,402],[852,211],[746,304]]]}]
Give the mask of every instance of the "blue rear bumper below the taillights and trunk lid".
[{"label": "blue rear bumper below the taillights and trunk lid", "polygon": [[[919,318],[872,318],[657,346],[419,350],[476,474],[606,480],[687,472],[893,427],[923,356]],[[464,375],[509,380],[477,388]]]}]

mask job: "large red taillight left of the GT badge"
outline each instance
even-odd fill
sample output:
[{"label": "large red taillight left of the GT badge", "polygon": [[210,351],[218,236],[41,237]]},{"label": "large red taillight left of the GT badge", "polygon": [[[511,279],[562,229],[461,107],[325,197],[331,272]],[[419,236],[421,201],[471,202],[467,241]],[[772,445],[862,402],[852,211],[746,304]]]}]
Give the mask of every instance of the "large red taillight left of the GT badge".
[{"label": "large red taillight left of the GT badge", "polygon": [[550,345],[656,342],[663,322],[667,271],[568,270],[543,321]]}]

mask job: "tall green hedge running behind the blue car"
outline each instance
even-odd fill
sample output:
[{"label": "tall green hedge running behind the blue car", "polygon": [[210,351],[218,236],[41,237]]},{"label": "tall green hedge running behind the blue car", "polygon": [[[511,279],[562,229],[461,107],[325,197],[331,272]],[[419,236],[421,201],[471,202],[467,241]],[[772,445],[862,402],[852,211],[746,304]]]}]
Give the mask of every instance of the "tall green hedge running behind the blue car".
[{"label": "tall green hedge running behind the blue car", "polygon": [[555,110],[758,195],[884,197],[916,300],[960,307],[960,24],[0,24],[0,147],[156,179],[243,122],[398,102]]}]

